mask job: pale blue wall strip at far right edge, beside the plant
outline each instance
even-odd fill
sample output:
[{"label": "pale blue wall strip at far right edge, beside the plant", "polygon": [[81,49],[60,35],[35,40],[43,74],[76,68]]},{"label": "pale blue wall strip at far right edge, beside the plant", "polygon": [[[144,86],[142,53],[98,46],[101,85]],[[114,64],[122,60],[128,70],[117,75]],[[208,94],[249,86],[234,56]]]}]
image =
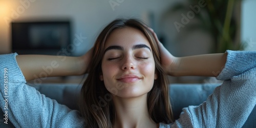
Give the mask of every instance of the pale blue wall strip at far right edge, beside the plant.
[{"label": "pale blue wall strip at far right edge, beside the plant", "polygon": [[246,50],[256,50],[256,1],[242,1],[241,41],[247,45]]}]

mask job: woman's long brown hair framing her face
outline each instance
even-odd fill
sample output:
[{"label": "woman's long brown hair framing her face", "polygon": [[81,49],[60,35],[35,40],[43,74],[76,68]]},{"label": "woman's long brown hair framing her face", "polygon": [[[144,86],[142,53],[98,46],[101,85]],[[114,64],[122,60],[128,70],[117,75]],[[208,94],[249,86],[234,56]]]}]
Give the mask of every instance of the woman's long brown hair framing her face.
[{"label": "woman's long brown hair framing her face", "polygon": [[170,107],[167,76],[160,63],[160,52],[157,42],[150,30],[137,19],[116,19],[106,26],[96,39],[92,60],[88,68],[88,77],[84,82],[80,95],[80,112],[89,127],[113,127],[116,119],[111,93],[106,90],[104,82],[100,81],[101,62],[104,45],[110,34],[123,27],[140,30],[150,42],[155,60],[155,70],[158,75],[153,88],[147,95],[147,107],[150,117],[156,122],[173,122]]}]

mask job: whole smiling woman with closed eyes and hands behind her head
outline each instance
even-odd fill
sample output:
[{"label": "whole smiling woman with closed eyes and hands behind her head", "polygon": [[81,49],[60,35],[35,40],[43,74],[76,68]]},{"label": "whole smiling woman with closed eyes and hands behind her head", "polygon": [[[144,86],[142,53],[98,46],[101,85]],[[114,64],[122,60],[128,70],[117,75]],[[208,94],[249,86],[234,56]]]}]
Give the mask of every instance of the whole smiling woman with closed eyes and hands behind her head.
[{"label": "whole smiling woman with closed eyes and hands behind her head", "polygon": [[[237,51],[174,57],[152,29],[117,19],[81,57],[1,55],[1,71],[8,73],[8,79],[1,75],[8,81],[8,92],[0,88],[1,104],[9,96],[8,110],[1,109],[16,127],[241,127],[256,103],[255,57]],[[89,73],[81,90],[81,116],[25,84],[35,75],[43,77],[39,74],[48,66],[48,77]],[[225,81],[206,102],[183,109],[173,121],[164,73]],[[102,97],[108,101],[100,102]]]}]

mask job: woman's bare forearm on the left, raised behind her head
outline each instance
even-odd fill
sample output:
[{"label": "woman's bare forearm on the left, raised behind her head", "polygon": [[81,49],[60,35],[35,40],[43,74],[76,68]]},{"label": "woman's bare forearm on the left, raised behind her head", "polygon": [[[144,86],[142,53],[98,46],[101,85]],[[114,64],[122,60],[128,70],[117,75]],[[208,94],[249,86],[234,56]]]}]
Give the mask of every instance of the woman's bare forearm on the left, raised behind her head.
[{"label": "woman's bare forearm on the left, raised behind her head", "polygon": [[86,73],[92,49],[79,57],[51,55],[17,55],[16,60],[25,79],[81,75]]}]

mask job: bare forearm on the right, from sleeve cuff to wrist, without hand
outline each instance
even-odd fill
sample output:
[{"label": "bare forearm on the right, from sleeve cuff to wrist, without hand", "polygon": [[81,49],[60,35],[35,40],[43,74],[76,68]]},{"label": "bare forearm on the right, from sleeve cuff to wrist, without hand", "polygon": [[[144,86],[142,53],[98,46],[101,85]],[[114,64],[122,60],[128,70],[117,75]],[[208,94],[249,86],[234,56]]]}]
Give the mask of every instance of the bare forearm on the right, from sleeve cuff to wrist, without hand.
[{"label": "bare forearm on the right, from sleeve cuff to wrist, without hand", "polygon": [[175,57],[175,63],[169,66],[168,74],[217,77],[225,66],[226,57],[226,53]]}]

